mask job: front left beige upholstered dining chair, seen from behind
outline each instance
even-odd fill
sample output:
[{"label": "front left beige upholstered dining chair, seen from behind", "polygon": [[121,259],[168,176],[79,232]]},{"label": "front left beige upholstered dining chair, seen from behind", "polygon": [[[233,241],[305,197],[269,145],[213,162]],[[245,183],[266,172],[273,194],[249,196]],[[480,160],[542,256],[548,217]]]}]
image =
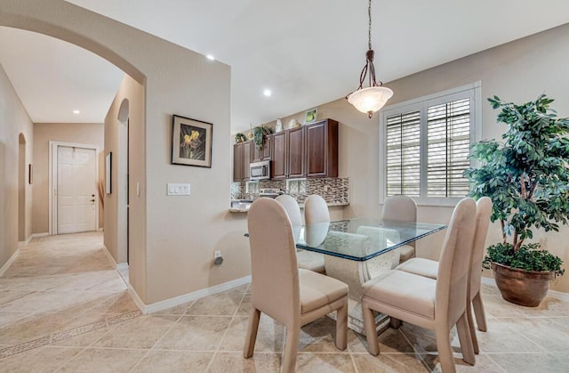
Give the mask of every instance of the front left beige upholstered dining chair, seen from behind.
[{"label": "front left beige upholstered dining chair, seen from behind", "polygon": [[255,199],[247,215],[252,295],[244,358],[252,356],[260,312],[286,328],[282,371],[293,372],[301,326],[336,312],[336,347],[346,349],[348,285],[298,268],[291,221],[275,199]]}]

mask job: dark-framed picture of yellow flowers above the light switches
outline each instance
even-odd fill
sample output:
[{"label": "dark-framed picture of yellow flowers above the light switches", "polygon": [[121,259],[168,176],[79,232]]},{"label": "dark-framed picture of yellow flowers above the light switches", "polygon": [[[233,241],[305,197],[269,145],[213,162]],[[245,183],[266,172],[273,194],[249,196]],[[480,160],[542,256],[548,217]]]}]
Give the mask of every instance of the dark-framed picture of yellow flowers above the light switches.
[{"label": "dark-framed picture of yellow flowers above the light switches", "polygon": [[211,123],[172,116],[172,165],[212,166]]}]

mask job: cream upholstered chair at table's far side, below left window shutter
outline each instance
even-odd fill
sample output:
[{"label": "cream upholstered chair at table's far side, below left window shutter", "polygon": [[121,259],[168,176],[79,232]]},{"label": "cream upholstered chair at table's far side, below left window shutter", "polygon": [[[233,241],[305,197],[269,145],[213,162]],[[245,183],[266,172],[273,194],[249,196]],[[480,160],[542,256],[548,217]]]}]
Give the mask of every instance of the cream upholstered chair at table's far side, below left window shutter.
[{"label": "cream upholstered chair at table's far side, below left window shutter", "polygon": [[[391,220],[395,222],[416,222],[417,221],[417,204],[415,201],[405,195],[390,196],[385,199],[383,210],[381,212],[382,220]],[[403,263],[415,256],[415,243],[399,247],[399,263]]]}]

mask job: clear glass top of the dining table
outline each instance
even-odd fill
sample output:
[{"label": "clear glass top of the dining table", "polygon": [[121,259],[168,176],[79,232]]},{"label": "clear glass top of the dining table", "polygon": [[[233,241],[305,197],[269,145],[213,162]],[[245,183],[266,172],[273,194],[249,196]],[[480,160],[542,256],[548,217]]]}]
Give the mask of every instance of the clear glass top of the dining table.
[{"label": "clear glass top of the dining table", "polygon": [[293,234],[298,248],[363,262],[445,228],[445,224],[354,218],[294,226]]}]

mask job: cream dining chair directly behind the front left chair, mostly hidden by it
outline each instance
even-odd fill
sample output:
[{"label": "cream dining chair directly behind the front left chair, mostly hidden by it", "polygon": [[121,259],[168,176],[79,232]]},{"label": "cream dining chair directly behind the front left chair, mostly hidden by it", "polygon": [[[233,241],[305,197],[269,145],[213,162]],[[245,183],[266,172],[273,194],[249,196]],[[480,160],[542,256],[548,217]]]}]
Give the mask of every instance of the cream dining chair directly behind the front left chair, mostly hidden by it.
[{"label": "cream dining chair directly behind the front left chair, mostly hidden by it", "polygon": [[[282,194],[276,197],[276,202],[283,205],[284,210],[288,214],[293,224],[294,242],[297,242],[301,233],[302,214],[301,207],[296,199],[288,194]],[[299,268],[310,270],[318,273],[325,273],[324,254],[315,253],[308,250],[297,250],[296,258],[299,262]]]}]

